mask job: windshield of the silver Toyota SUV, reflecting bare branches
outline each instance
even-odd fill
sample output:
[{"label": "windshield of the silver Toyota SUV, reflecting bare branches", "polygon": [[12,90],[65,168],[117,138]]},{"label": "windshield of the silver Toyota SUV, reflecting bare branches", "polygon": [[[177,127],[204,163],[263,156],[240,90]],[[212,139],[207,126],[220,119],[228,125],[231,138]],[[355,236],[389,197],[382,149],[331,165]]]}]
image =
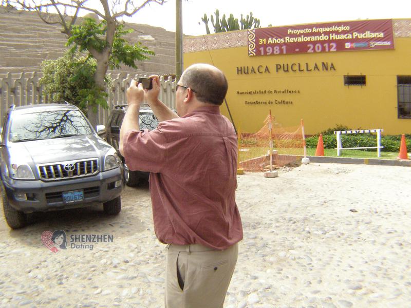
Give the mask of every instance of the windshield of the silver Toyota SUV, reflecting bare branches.
[{"label": "windshield of the silver Toyota SUV, reflecting bare branches", "polygon": [[13,117],[9,140],[19,142],[83,136],[91,133],[91,128],[80,111],[52,110]]}]

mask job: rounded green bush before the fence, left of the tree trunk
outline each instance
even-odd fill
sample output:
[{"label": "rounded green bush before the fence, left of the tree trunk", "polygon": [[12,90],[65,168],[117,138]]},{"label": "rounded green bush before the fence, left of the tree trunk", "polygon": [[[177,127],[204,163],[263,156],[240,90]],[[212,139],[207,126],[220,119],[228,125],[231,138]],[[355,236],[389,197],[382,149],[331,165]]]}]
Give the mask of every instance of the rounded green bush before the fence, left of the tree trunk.
[{"label": "rounded green bush before the fence, left of the tree trunk", "polygon": [[[96,69],[96,59],[67,51],[57,60],[43,61],[40,84],[52,101],[67,101],[87,113],[89,106],[108,107],[107,93],[96,85],[94,79]],[[108,75],[104,81],[111,86]]]}]

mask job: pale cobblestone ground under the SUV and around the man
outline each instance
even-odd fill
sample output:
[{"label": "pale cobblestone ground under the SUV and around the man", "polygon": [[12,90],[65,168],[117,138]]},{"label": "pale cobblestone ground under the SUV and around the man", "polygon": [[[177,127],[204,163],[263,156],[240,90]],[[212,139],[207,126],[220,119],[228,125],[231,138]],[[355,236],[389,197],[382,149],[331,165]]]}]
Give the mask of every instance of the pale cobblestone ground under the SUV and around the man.
[{"label": "pale cobblestone ground under the SUV and around the man", "polygon": [[[311,163],[238,176],[245,238],[225,307],[409,307],[410,171]],[[0,306],[162,307],[165,246],[148,187],[127,187],[122,207],[33,215],[20,230],[2,215]],[[41,235],[57,229],[68,249],[54,254]],[[85,234],[113,242],[71,248]]]}]

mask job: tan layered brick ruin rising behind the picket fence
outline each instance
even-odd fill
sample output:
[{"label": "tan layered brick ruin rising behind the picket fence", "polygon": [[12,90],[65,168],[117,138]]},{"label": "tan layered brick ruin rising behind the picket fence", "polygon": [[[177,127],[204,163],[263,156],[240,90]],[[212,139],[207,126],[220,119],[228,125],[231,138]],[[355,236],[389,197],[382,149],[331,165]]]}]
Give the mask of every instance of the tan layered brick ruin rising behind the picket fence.
[{"label": "tan layered brick ruin rising behind the picket fence", "polygon": [[[136,15],[136,19],[138,15]],[[126,35],[130,43],[141,42],[155,56],[138,62],[138,69],[123,66],[111,73],[174,74],[175,33],[163,28],[127,24],[134,32]],[[0,7],[0,78],[8,72],[41,72],[42,61],[57,59],[67,50],[67,37],[60,25],[44,23],[35,12],[11,11]]]}]

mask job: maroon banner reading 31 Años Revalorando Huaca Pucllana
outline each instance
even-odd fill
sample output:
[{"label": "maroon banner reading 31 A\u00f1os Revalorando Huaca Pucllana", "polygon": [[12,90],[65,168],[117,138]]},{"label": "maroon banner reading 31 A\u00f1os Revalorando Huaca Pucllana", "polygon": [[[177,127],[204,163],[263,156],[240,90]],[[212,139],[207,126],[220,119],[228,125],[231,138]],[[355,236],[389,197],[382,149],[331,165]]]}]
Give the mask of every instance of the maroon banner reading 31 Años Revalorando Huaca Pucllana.
[{"label": "maroon banner reading 31 A\u00f1os Revalorando Huaca Pucllana", "polygon": [[248,55],[394,49],[392,20],[248,30]]}]

